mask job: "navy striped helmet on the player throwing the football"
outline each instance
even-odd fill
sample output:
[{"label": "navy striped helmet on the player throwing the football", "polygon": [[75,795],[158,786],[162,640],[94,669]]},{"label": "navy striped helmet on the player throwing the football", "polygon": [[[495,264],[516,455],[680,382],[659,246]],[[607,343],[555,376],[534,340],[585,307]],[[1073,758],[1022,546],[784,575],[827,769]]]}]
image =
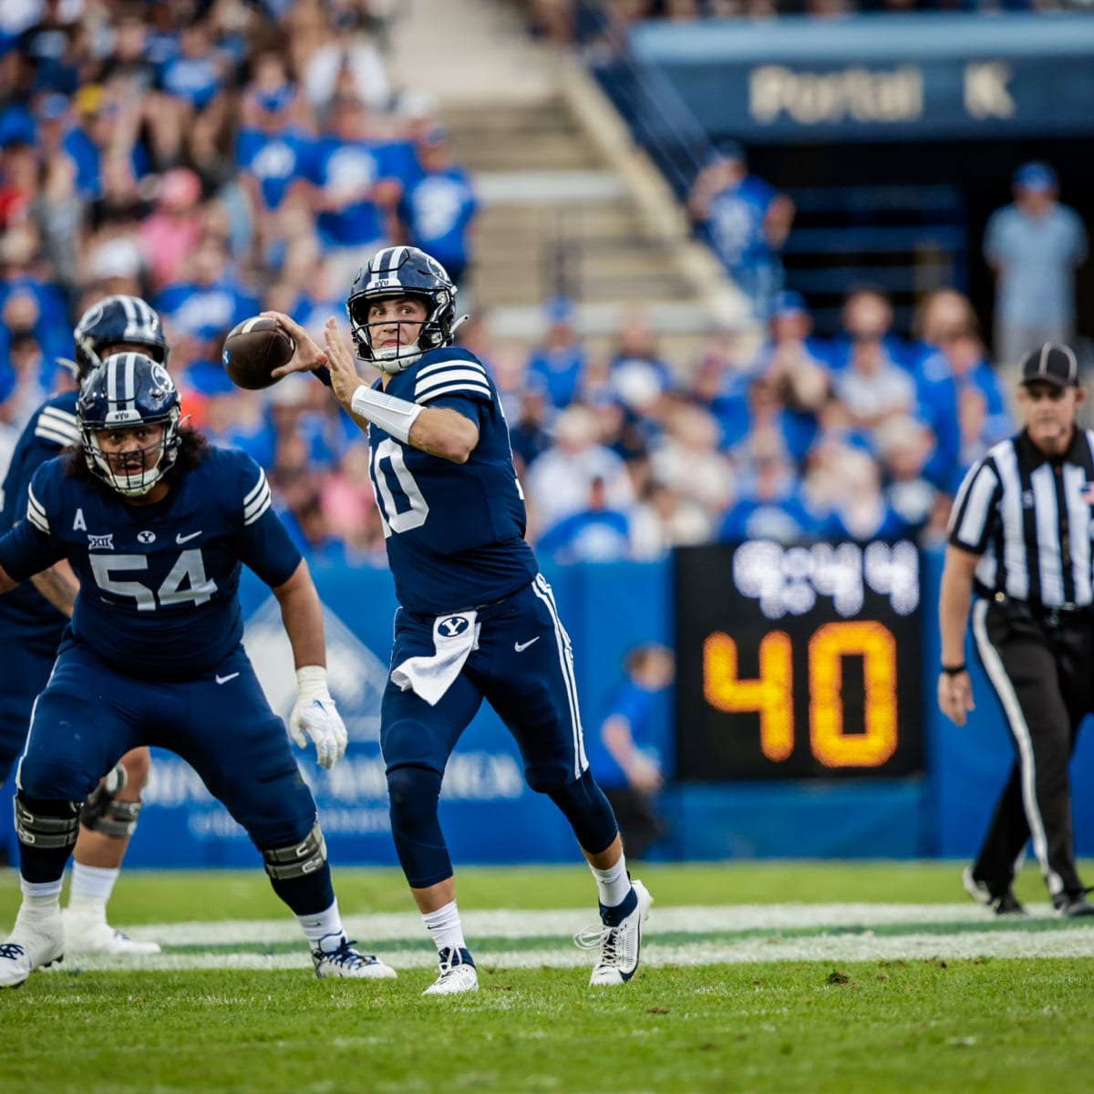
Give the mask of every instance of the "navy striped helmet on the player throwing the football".
[{"label": "navy striped helmet on the player throwing the football", "polygon": [[[417,296],[426,305],[426,322],[412,342],[373,349],[369,305],[384,296]],[[455,322],[456,287],[444,267],[417,247],[377,251],[369,265],[357,271],[346,311],[357,356],[363,361],[372,361],[384,372],[401,372],[422,353],[439,346],[451,346],[459,325]]]}]

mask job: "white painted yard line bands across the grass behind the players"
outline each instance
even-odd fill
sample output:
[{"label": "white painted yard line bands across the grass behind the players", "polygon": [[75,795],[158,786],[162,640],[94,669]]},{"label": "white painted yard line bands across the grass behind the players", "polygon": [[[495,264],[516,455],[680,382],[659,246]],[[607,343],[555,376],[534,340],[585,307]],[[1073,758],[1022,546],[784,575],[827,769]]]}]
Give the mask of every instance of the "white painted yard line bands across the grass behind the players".
[{"label": "white painted yard line bands across the grass behind the players", "polygon": [[[1048,906],[1034,906],[1048,917]],[[465,929],[474,948],[476,941],[557,939],[536,950],[501,950],[491,946],[480,955],[485,968],[579,968],[592,956],[570,944],[570,935],[587,926],[587,911],[572,908],[540,911],[470,911]],[[924,961],[973,957],[1094,957],[1094,927],[1068,930],[1015,930],[1002,924],[994,930],[964,930],[955,933],[911,932],[877,936],[872,928],[907,924],[998,924],[984,908],[965,904],[943,905],[750,905],[722,908],[654,908],[642,947],[649,967],[664,965],[735,965],[766,962],[856,962]],[[346,927],[362,940],[362,950],[376,950],[396,968],[432,968],[435,956],[422,945],[421,920],[414,913],[349,916]],[[843,931],[806,936],[745,936],[756,930]],[[208,923],[159,923],[130,929],[135,938],[154,939],[167,946],[263,945],[296,942],[296,924],[288,917],[263,920],[222,920]],[[741,938],[700,939],[668,944],[659,936],[670,933]],[[414,942],[415,948],[406,943]],[[309,969],[311,961],[303,943],[290,953],[167,953],[143,958],[110,958],[94,954],[70,954],[60,968],[142,969]]]}]

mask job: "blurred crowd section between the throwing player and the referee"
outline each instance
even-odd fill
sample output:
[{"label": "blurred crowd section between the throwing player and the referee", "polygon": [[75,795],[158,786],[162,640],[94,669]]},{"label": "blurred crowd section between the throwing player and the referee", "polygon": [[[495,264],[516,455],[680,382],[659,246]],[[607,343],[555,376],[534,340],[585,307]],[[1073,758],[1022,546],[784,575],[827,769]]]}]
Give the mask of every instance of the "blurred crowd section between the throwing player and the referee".
[{"label": "blurred crowd section between the throwing player and the referee", "polygon": [[912,339],[874,288],[848,295],[833,339],[784,291],[758,348],[717,334],[685,368],[638,314],[602,359],[565,301],[548,311],[529,354],[481,333],[476,349],[500,376],[533,534],[556,561],[755,537],[938,543],[964,472],[1013,431],[953,290],[922,301]]}]

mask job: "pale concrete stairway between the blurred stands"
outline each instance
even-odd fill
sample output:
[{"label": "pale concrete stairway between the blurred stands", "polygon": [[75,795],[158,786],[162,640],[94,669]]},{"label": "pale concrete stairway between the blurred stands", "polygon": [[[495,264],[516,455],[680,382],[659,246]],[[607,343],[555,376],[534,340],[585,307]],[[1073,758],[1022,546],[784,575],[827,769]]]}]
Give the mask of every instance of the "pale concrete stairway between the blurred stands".
[{"label": "pale concrete stairway between the blurred stands", "polygon": [[[423,63],[422,58],[429,62]],[[638,309],[683,365],[715,326],[747,325],[740,294],[687,236],[667,185],[595,82],[531,40],[492,0],[414,0],[388,67],[432,91],[482,201],[470,295],[502,337],[531,340],[543,304],[578,301],[594,350]]]}]

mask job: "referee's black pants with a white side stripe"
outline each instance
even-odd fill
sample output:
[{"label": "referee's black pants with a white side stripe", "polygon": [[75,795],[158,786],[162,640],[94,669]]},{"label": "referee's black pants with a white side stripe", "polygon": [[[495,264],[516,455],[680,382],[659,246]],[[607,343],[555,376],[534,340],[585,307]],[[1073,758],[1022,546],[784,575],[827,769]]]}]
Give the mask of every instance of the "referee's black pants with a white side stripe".
[{"label": "referee's black pants with a white side stripe", "polygon": [[993,893],[1005,888],[1032,837],[1054,899],[1080,893],[1068,764],[1094,705],[1094,622],[978,601],[973,633],[1017,752],[973,875]]}]

